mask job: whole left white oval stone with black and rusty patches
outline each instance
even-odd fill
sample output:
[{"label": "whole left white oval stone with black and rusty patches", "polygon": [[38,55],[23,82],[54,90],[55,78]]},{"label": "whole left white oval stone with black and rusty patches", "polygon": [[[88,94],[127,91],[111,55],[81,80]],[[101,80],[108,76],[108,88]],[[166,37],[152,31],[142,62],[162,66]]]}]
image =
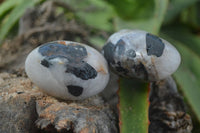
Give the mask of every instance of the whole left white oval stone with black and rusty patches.
[{"label": "whole left white oval stone with black and rusty patches", "polygon": [[35,48],[27,56],[25,70],[41,90],[65,100],[96,95],[109,81],[103,55],[72,41],[53,41]]}]

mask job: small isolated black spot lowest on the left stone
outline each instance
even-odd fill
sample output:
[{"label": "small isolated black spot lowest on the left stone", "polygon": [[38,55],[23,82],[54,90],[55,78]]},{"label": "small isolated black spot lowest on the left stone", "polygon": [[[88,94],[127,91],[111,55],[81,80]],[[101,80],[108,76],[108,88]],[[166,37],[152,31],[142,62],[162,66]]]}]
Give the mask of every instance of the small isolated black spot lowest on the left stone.
[{"label": "small isolated black spot lowest on the left stone", "polygon": [[68,92],[75,97],[78,97],[83,93],[83,88],[80,86],[68,85],[67,88]]}]

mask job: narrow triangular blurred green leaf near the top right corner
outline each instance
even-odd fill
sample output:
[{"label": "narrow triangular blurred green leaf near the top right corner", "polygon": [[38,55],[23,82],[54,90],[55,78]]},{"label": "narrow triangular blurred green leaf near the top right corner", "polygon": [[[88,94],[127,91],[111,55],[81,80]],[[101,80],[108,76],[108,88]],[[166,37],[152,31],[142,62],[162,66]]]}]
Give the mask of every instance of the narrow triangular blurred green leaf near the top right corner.
[{"label": "narrow triangular blurred green leaf near the top right corner", "polygon": [[196,3],[199,0],[171,0],[167,9],[164,22],[169,22],[176,17],[181,11]]}]

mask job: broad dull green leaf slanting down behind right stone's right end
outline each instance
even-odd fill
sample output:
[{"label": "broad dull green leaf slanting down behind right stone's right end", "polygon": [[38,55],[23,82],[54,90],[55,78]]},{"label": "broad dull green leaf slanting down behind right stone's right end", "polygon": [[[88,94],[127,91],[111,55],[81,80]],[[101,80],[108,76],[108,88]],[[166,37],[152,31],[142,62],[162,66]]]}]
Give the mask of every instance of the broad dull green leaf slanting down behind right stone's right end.
[{"label": "broad dull green leaf slanting down behind right stone's right end", "polygon": [[181,53],[182,63],[174,76],[185,98],[200,121],[200,58],[186,47],[185,44],[175,41],[169,36],[164,35],[164,37],[172,42]]}]

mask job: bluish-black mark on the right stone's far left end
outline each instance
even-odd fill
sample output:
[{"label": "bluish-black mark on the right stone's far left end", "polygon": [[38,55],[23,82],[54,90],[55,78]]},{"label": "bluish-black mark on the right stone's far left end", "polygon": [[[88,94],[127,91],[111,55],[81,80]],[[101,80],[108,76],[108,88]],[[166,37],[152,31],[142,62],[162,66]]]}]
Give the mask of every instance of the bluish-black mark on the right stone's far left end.
[{"label": "bluish-black mark on the right stone's far left end", "polygon": [[108,61],[108,63],[110,64],[114,64],[114,50],[115,50],[115,45],[112,44],[111,42],[108,42],[104,47],[103,47],[103,51],[104,51],[104,57],[106,58],[106,60]]}]

